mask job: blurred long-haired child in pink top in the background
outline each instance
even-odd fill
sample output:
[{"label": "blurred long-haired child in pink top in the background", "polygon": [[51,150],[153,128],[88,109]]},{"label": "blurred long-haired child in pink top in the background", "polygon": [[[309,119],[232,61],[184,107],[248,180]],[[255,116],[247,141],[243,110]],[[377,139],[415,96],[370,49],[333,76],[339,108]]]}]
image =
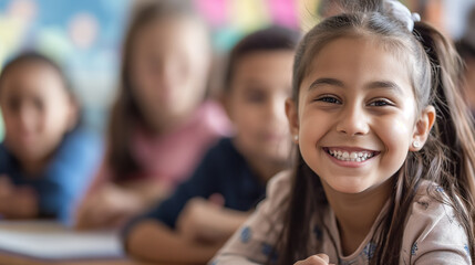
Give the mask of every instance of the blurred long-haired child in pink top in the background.
[{"label": "blurred long-haired child in pink top in the background", "polygon": [[164,199],[228,134],[206,96],[207,30],[185,0],[142,6],[126,34],[118,98],[103,167],[76,214],[76,226],[117,226]]}]

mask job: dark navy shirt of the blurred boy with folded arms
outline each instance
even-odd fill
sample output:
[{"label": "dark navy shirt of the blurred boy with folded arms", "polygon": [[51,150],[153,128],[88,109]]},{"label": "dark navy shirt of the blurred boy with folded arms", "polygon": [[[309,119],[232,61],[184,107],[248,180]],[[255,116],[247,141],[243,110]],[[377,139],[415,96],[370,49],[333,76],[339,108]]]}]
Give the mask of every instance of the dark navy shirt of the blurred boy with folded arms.
[{"label": "dark navy shirt of the blurred boy with folded arms", "polygon": [[[246,212],[265,193],[265,181],[252,172],[231,139],[224,138],[207,152],[189,181],[143,218],[156,219],[176,229],[178,215],[193,198],[208,199],[219,194],[224,200],[223,206]],[[215,199],[216,205],[220,204],[216,201],[220,199]]]}]

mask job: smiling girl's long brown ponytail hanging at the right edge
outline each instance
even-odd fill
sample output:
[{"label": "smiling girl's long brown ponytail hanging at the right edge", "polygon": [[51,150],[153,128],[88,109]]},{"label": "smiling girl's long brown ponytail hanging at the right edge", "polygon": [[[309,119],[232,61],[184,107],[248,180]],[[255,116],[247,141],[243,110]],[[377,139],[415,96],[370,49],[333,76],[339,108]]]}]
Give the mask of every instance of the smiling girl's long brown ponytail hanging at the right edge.
[{"label": "smiling girl's long brown ponytail hanging at the right edge", "polygon": [[415,23],[414,34],[432,64],[431,104],[437,118],[430,141],[438,144],[445,151],[446,162],[442,172],[445,178],[436,181],[451,198],[459,198],[451,204],[456,212],[466,213],[459,218],[466,225],[472,261],[475,261],[475,136],[473,117],[462,93],[462,60],[454,45],[433,26]]}]

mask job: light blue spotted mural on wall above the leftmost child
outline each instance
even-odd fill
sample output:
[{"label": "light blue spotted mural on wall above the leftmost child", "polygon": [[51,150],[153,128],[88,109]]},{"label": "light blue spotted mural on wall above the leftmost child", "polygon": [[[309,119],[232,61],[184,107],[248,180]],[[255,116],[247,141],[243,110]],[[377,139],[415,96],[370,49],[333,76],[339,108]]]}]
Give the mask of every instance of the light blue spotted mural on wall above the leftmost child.
[{"label": "light blue spotted mural on wall above the leftmost child", "polygon": [[99,124],[102,117],[96,109],[104,108],[114,92],[130,4],[128,0],[0,0],[0,67],[24,50],[55,59],[84,105],[86,121]]}]

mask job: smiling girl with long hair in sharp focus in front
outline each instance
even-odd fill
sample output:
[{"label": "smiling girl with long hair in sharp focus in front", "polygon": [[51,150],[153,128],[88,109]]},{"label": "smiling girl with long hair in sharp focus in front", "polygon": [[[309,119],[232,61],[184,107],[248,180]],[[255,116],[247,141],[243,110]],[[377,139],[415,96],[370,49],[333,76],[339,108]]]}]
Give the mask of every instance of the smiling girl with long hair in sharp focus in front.
[{"label": "smiling girl with long hair in sharp focus in front", "polygon": [[360,4],[300,43],[286,103],[296,168],[214,264],[473,264],[459,60],[399,1]]}]

